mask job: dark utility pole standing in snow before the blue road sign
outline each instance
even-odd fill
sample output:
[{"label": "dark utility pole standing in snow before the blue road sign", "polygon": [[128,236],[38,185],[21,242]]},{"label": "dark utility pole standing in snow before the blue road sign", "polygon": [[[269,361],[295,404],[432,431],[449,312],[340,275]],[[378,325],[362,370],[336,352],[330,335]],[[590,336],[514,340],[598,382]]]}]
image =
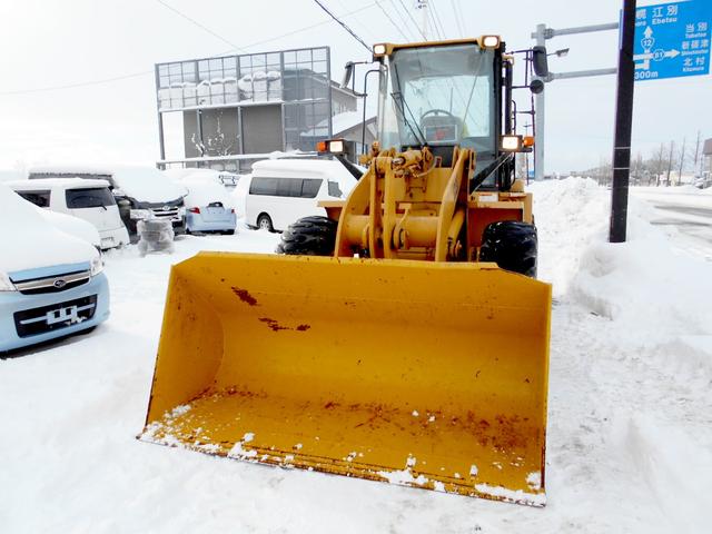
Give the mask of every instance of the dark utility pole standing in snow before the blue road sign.
[{"label": "dark utility pole standing in snow before the blue road sign", "polygon": [[619,51],[619,80],[613,145],[613,186],[611,188],[611,230],[609,241],[624,243],[627,226],[627,187],[631,174],[633,137],[633,91],[635,87],[635,0],[623,0],[623,28]]}]

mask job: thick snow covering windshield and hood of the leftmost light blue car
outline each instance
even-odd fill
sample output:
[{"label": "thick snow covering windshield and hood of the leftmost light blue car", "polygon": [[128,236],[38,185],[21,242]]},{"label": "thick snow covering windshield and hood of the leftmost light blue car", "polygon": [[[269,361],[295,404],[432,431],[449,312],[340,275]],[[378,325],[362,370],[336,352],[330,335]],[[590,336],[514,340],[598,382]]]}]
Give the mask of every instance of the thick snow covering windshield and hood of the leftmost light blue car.
[{"label": "thick snow covering windshield and hood of the leftmost light blue car", "polygon": [[2,273],[90,261],[99,255],[86,240],[50,224],[37,206],[3,184],[0,184],[0,250]]}]

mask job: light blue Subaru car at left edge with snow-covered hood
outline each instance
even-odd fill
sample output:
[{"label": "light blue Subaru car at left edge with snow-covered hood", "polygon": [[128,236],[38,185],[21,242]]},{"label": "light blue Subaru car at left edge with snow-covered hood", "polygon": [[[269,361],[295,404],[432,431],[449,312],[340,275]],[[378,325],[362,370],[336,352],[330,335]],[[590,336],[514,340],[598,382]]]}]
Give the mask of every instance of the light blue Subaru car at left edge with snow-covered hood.
[{"label": "light blue Subaru car at left edge with snow-covered hood", "polygon": [[0,207],[0,352],[106,320],[109,283],[99,251],[50,225],[2,184]]}]

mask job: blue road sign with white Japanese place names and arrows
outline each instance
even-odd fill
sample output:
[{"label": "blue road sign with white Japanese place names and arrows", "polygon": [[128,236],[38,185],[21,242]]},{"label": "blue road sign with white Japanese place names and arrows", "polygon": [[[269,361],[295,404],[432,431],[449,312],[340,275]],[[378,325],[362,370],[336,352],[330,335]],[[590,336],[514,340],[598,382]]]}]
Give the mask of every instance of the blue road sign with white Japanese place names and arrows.
[{"label": "blue road sign with white Japanese place names and arrows", "polygon": [[635,80],[710,73],[712,0],[637,8]]}]

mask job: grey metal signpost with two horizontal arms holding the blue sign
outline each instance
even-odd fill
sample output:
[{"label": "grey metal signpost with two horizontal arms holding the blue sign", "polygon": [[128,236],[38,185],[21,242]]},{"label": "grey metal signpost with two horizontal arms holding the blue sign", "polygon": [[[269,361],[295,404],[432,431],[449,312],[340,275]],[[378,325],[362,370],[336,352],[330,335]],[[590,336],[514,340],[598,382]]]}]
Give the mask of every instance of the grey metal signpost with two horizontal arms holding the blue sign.
[{"label": "grey metal signpost with two horizontal arms holding the blue sign", "polygon": [[[545,46],[547,39],[553,39],[557,36],[571,36],[575,33],[591,33],[595,31],[607,31],[607,30],[617,30],[619,23],[611,22],[609,24],[595,24],[595,26],[582,26],[577,28],[562,28],[555,30],[553,28],[546,28],[546,24],[537,24],[536,31],[532,33],[532,39],[536,39],[537,46]],[[544,83],[554,81],[554,80],[563,80],[571,78],[587,78],[591,76],[605,76],[605,75],[615,75],[617,69],[594,69],[594,70],[580,70],[575,72],[560,72],[554,73],[551,72],[546,78],[536,78],[542,80]],[[536,115],[535,119],[535,128],[536,132],[536,141],[534,144],[534,177],[536,180],[544,179],[544,147],[545,147],[545,129],[544,129],[544,119],[545,119],[545,106],[546,106],[546,90],[540,92],[535,97],[535,109]]]}]

